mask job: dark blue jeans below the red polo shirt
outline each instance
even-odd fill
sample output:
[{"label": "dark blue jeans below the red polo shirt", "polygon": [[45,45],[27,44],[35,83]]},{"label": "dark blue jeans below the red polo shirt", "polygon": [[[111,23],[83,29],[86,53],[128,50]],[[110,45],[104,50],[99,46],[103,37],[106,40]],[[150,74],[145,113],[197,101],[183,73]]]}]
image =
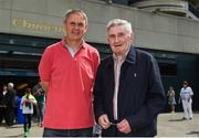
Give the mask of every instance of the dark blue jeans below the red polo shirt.
[{"label": "dark blue jeans below the red polo shirt", "polygon": [[82,129],[52,129],[44,128],[43,137],[92,137],[93,127]]}]

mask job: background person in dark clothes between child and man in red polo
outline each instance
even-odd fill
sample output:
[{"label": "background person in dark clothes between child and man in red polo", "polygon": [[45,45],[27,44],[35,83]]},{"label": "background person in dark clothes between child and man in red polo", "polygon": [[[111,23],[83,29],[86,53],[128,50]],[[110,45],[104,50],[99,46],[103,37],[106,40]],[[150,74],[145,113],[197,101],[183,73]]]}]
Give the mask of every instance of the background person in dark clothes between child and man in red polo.
[{"label": "background person in dark clothes between child and man in red polo", "polygon": [[40,127],[43,126],[43,115],[44,115],[44,108],[45,108],[45,93],[41,85],[38,83],[32,88],[32,95],[36,99],[36,117],[38,117],[38,125]]}]

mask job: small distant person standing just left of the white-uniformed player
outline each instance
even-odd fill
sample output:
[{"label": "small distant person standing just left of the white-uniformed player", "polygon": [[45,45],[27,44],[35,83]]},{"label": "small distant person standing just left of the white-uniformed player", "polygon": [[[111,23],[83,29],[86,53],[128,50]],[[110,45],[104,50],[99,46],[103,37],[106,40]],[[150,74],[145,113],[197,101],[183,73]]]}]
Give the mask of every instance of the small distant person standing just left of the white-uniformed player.
[{"label": "small distant person standing just left of the white-uniformed player", "polygon": [[169,86],[167,96],[168,96],[168,105],[170,106],[170,112],[175,113],[176,98],[175,98],[175,91],[172,86]]}]

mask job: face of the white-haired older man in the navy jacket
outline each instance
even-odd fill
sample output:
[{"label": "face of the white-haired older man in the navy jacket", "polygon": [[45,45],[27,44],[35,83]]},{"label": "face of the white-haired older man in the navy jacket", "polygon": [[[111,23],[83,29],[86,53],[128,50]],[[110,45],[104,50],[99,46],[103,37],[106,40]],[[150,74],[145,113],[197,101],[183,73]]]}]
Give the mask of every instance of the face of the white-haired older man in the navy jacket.
[{"label": "face of the white-haired older man in the navy jacket", "polygon": [[133,42],[133,34],[129,33],[123,25],[112,26],[108,30],[107,35],[112,52],[116,55],[124,55]]}]

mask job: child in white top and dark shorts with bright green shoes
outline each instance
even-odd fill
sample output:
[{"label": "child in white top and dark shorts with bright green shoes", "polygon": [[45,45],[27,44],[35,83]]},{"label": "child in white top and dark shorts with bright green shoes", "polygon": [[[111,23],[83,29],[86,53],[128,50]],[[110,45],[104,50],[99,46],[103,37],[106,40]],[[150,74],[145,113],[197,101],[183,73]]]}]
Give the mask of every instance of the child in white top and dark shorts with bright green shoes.
[{"label": "child in white top and dark shorts with bright green shoes", "polygon": [[21,99],[21,109],[23,114],[23,129],[24,137],[28,137],[31,128],[31,119],[33,114],[33,105],[36,105],[36,100],[33,95],[31,95],[31,88],[25,88],[25,94]]}]

